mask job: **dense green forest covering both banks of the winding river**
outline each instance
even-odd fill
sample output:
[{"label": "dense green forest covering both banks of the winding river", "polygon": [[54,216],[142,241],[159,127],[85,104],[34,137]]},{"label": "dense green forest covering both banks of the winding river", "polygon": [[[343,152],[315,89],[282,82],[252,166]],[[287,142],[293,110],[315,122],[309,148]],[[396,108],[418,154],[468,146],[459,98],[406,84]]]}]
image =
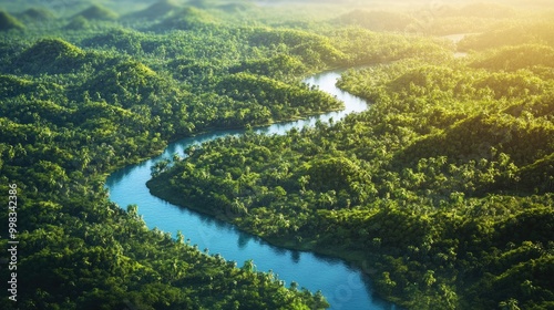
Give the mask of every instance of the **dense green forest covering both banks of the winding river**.
[{"label": "dense green forest covering both banks of the winding river", "polygon": [[[18,301],[2,265],[1,308],[328,308],[147,229],[104,182],[179,137],[339,110],[301,78],[357,64],[372,65],[340,85],[368,112],[208,143],[151,188],[355,261],[408,308],[554,307],[553,21],[416,7],[366,23],[386,6],[0,1],[0,245],[19,241]],[[480,34],[432,37],[459,32]]]}]

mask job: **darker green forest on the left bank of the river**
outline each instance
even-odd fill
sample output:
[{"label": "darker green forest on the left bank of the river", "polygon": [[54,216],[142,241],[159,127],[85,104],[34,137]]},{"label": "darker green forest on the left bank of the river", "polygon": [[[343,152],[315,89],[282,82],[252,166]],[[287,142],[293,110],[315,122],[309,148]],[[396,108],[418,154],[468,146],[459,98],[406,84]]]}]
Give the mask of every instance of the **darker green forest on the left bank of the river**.
[{"label": "darker green forest on the left bank of the river", "polygon": [[[327,308],[320,293],[285,288],[268,273],[148,230],[136,207],[109,202],[103,182],[170,140],[339,108],[298,82],[331,63],[334,48],[320,49],[326,39],[314,37],[279,43],[276,52],[250,41],[266,28],[201,20],[191,21],[195,31],[142,32],[142,24],[99,21],[107,12],[93,7],[57,20],[52,33],[33,28],[1,38],[0,189],[18,185],[25,251],[21,301],[3,299],[2,309]],[[321,52],[319,66],[302,63],[302,49]],[[290,69],[269,73],[285,63]],[[8,223],[6,213],[0,220]]]}]

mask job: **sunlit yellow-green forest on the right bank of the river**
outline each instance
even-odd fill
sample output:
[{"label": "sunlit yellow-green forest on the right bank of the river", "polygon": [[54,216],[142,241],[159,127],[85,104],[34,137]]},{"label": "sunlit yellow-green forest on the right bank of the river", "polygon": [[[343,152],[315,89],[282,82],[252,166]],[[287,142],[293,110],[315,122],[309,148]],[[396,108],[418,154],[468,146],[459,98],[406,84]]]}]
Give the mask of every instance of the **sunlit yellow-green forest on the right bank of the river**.
[{"label": "sunlit yellow-green forest on the right bank of the river", "polygon": [[348,71],[339,86],[368,112],[192,148],[148,186],[274,244],[356,261],[410,309],[550,309],[551,51]]}]

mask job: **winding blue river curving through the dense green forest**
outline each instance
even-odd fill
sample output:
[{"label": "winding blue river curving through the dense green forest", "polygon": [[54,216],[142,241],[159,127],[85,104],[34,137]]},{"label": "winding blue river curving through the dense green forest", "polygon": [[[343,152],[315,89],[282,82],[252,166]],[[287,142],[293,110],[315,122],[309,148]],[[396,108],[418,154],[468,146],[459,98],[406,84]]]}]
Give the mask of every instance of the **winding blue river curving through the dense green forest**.
[{"label": "winding blue river curving through the dense green forest", "polygon": [[[264,134],[284,134],[293,127],[314,126],[317,121],[338,121],[345,115],[368,108],[367,102],[335,86],[341,70],[328,71],[305,80],[307,84],[317,85],[320,90],[336,95],[345,102],[346,108],[307,120],[273,124],[257,128]],[[394,309],[372,294],[369,279],[362,272],[340,259],[318,256],[271,246],[258,237],[239,231],[234,226],[168,204],[150,194],[146,182],[151,178],[151,166],[161,158],[168,158],[194,144],[201,144],[226,135],[239,135],[244,131],[222,131],[188,137],[172,143],[165,152],[150,161],[131,165],[109,176],[106,187],[110,198],[123,208],[136,204],[138,214],[143,216],[150,228],[176,235],[181,230],[192,245],[201,250],[208,248],[211,254],[220,254],[227,260],[237,261],[242,266],[245,260],[254,259],[259,271],[273,270],[286,285],[298,282],[315,292],[321,290],[331,304],[330,309]]]}]

